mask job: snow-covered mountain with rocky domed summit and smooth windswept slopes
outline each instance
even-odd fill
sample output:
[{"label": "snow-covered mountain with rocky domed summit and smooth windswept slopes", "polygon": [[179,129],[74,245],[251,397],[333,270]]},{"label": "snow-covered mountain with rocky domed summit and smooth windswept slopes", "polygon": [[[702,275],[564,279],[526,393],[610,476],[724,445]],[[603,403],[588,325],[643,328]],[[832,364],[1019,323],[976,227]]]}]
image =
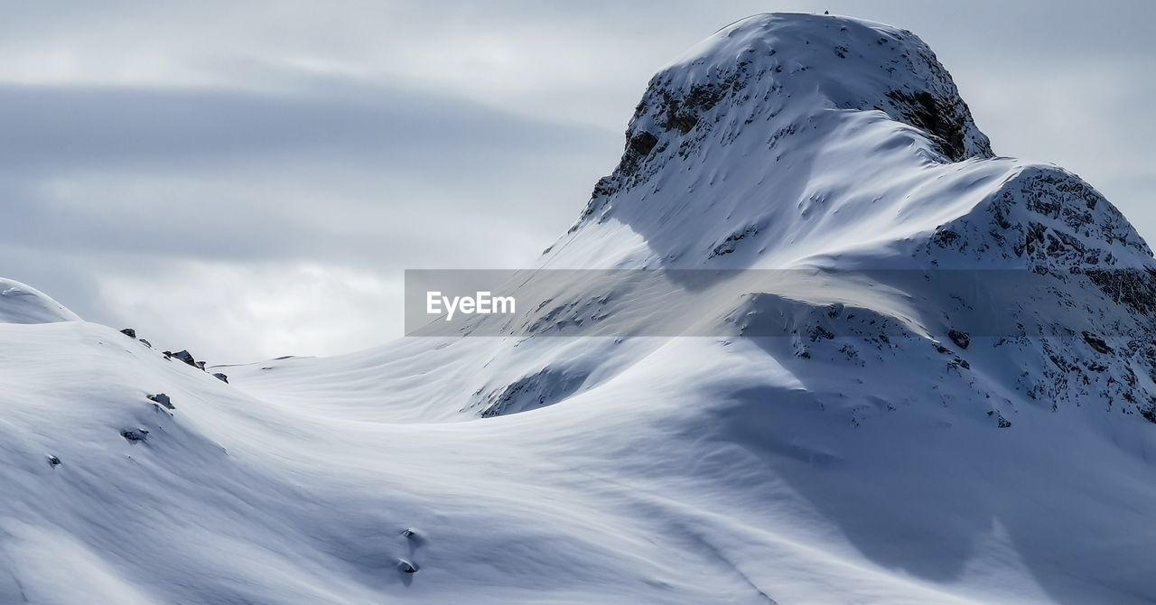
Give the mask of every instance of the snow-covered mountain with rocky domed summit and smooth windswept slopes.
[{"label": "snow-covered mountain with rocky domed summit and smooth windswept slopes", "polygon": [[695,46],[562,268],[814,279],[688,297],[717,337],[540,334],[630,298],[578,281],[521,335],[209,371],[0,282],[0,603],[1156,600],[1156,261],[914,35]]}]

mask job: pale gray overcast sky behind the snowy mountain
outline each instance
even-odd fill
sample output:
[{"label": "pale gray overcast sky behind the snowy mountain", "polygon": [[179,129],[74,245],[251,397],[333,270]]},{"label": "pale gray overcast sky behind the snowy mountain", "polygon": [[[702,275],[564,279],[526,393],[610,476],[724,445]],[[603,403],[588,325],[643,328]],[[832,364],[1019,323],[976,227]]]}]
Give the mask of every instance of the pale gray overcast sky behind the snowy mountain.
[{"label": "pale gray overcast sky behind the snowy mountain", "polygon": [[54,1],[0,20],[0,275],[210,362],[381,344],[405,268],[564,231],[667,60],[824,9],[920,35],[996,153],[1156,241],[1144,0]]}]

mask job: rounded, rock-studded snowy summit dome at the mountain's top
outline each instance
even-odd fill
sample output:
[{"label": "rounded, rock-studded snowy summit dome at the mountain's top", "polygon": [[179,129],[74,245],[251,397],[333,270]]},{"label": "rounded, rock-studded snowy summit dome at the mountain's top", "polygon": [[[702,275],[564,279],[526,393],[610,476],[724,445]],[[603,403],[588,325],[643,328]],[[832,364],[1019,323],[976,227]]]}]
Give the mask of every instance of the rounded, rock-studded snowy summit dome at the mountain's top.
[{"label": "rounded, rock-studded snowy summit dome at the mountain's top", "polygon": [[740,131],[759,131],[773,147],[830,111],[883,112],[918,131],[943,162],[994,155],[950,74],[914,34],[840,16],[762,14],[722,28],[651,79],[622,160],[583,216],[647,180],[664,154],[686,160]]}]

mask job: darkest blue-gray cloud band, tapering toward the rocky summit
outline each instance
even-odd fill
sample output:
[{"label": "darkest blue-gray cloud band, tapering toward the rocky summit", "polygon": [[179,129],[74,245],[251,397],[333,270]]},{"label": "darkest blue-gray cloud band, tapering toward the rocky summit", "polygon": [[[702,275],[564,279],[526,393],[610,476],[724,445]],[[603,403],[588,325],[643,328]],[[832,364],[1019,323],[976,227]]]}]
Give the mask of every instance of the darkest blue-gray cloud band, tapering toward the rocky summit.
[{"label": "darkest blue-gray cloud band, tapering toward the rocky summit", "polygon": [[[439,157],[467,176],[565,143],[588,150],[590,127],[535,120],[459,98],[312,83],[312,95],[135,87],[0,86],[5,172],[198,169],[261,156],[341,156],[366,168],[431,176]],[[334,94],[338,93],[338,94]]]}]

